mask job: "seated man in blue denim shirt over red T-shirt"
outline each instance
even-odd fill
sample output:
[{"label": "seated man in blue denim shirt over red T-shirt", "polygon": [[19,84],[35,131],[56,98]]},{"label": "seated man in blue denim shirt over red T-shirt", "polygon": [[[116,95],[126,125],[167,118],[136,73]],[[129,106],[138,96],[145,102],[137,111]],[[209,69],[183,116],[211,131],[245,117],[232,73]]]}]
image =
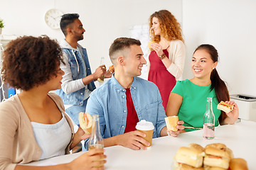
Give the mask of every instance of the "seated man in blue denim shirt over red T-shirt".
[{"label": "seated man in blue denim shirt over red T-shirt", "polygon": [[153,137],[167,135],[159,89],[154,83],[137,77],[146,64],[140,45],[139,40],[132,38],[114,40],[110,47],[114,74],[90,94],[86,112],[99,115],[105,147],[122,145],[146,149],[144,145],[149,146],[149,142],[142,138],[145,134],[135,129],[140,120],[153,123]]}]

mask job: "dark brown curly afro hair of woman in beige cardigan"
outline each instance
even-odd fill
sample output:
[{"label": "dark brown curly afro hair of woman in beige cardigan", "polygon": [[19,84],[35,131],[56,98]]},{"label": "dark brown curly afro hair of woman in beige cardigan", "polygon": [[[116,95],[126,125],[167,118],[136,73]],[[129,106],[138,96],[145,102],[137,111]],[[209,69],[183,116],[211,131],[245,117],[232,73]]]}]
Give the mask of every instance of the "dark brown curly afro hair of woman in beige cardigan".
[{"label": "dark brown curly afro hair of woman in beige cardigan", "polygon": [[28,91],[57,76],[62,56],[57,40],[46,35],[23,36],[9,42],[4,50],[1,76],[10,86]]}]

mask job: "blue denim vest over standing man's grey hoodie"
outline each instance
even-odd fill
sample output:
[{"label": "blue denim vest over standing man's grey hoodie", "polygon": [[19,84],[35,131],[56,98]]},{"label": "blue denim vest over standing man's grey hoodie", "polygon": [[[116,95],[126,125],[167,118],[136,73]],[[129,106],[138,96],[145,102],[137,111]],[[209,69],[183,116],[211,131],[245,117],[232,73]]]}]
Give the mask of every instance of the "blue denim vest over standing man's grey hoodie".
[{"label": "blue denim vest over standing man's grey hoodie", "polygon": [[[78,79],[82,79],[83,77],[86,77],[92,74],[86,49],[81,47],[80,45],[78,45],[78,47],[82,52],[82,56],[78,51],[74,51],[70,48],[63,48],[63,52],[65,52],[68,55],[68,64],[70,67],[70,71],[72,73],[72,79],[74,81]],[[76,57],[74,56],[73,53],[75,54]],[[82,60],[85,62],[85,64],[83,64]],[[93,91],[94,89],[96,89],[93,81],[91,81],[90,84],[87,84],[87,89],[89,89],[90,91]],[[63,103],[65,105],[82,106],[83,101],[85,99],[84,98],[85,86],[83,86],[82,89],[79,89],[78,91],[74,91],[70,94],[65,93],[63,89],[56,90],[55,93],[58,94],[63,99]]]}]

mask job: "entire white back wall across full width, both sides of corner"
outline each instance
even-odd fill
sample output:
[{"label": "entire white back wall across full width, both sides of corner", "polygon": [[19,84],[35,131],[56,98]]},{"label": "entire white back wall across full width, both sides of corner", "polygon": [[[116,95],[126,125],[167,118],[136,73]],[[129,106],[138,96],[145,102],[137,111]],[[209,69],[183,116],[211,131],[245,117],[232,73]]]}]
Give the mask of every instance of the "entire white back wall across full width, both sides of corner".
[{"label": "entire white back wall across full width, both sides of corner", "polygon": [[202,43],[214,45],[220,55],[218,72],[230,94],[256,96],[256,1],[254,0],[0,0],[0,18],[7,35],[42,35],[61,40],[63,33],[46,26],[50,8],[79,13],[85,32],[80,44],[87,48],[92,70],[105,57],[112,41],[129,36],[134,25],[148,23],[154,11],[167,9],[183,26],[187,47],[183,79],[193,77],[193,50]]}]

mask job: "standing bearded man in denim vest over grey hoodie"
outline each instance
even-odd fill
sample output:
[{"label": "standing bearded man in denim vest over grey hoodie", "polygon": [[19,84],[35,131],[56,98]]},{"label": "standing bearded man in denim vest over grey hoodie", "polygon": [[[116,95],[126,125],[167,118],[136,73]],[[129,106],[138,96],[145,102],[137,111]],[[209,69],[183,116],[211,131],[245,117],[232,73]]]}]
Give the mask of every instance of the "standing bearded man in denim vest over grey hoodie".
[{"label": "standing bearded man in denim vest over grey hoodie", "polygon": [[60,28],[65,35],[65,40],[60,43],[65,64],[61,63],[60,69],[65,74],[61,89],[56,91],[56,94],[63,99],[65,112],[77,125],[78,113],[85,112],[87,99],[95,89],[94,80],[106,72],[105,65],[101,65],[92,74],[86,49],[78,44],[85,33],[78,17],[78,13],[68,13],[60,20]]}]

